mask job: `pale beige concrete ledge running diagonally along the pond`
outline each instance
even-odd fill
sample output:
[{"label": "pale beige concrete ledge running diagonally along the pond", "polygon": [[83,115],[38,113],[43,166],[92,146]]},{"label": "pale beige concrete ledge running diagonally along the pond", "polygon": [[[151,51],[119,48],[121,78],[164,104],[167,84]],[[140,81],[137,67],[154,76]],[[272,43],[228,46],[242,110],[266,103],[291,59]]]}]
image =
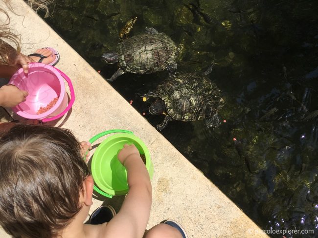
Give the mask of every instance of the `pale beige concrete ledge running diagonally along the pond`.
[{"label": "pale beige concrete ledge running diagonally along the pond", "polygon": [[[18,15],[8,11],[10,25],[22,35],[22,52],[45,46],[57,49],[61,59],[56,66],[72,79],[76,94],[72,112],[56,126],[71,129],[80,140],[104,130],[127,129],[149,148],[155,172],[148,228],[170,218],[178,220],[191,238],[267,237],[23,0],[13,0],[12,6]],[[91,211],[101,203],[95,199]],[[0,237],[9,236],[0,230]]]}]

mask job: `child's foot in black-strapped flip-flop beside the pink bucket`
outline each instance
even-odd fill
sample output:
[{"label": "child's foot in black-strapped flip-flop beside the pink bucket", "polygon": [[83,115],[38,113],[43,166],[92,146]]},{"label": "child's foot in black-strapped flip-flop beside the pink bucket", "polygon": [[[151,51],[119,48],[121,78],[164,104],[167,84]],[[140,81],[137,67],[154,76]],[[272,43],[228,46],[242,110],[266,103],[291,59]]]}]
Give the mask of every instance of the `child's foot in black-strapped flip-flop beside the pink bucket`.
[{"label": "child's foot in black-strapped flip-flop beside the pink bucket", "polygon": [[49,64],[49,65],[56,65],[60,59],[59,53],[50,47],[45,47],[42,49],[37,49],[35,53],[28,55],[31,59],[35,62]]}]

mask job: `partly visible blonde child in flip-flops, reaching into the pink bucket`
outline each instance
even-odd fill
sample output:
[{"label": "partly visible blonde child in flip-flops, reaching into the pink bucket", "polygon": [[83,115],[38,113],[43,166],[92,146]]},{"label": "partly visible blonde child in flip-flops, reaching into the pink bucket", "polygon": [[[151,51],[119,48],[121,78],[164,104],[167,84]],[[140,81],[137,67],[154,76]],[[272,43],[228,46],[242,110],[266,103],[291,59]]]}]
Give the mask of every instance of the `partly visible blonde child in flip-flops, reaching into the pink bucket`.
[{"label": "partly visible blonde child in flip-flops, reaching into the pink bucket", "polygon": [[[10,5],[10,0],[2,0],[9,10],[14,6]],[[48,16],[49,0],[26,0],[34,9],[43,9]],[[3,5],[4,6],[4,5]],[[9,14],[0,7],[0,78],[11,78],[11,76],[20,68],[23,68],[25,74],[28,73],[29,62],[42,62],[55,65],[59,60],[59,54],[50,47],[38,49],[34,54],[25,56],[21,53],[20,35],[14,34],[9,28]],[[13,46],[15,47],[13,47]],[[26,100],[28,92],[20,90],[13,85],[4,85],[0,88],[0,106],[14,107]]]}]

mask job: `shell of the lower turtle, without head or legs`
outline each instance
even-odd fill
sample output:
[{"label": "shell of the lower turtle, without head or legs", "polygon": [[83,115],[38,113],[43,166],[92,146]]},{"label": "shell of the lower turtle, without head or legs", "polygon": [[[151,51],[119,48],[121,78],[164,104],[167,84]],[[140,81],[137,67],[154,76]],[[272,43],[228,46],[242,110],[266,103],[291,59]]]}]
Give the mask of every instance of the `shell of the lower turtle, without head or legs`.
[{"label": "shell of the lower turtle, without head or legs", "polygon": [[167,78],[157,87],[156,93],[164,101],[169,116],[183,121],[204,119],[205,107],[208,105],[217,110],[222,101],[220,90],[215,83],[193,73]]}]

